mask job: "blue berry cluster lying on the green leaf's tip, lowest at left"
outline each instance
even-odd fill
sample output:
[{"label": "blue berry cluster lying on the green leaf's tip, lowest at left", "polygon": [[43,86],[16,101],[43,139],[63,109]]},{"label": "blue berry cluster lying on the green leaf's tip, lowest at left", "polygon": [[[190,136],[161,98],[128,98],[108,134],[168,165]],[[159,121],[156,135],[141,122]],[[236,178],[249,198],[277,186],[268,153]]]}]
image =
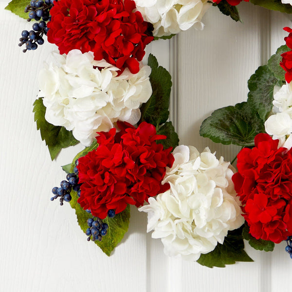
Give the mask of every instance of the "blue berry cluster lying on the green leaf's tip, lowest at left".
[{"label": "blue berry cluster lying on the green leaf's tip, lowest at left", "polygon": [[[108,217],[113,218],[115,216],[115,211],[114,210],[109,210],[108,212]],[[102,237],[107,235],[109,225],[105,222],[103,222],[100,218],[98,217],[93,217],[87,219],[87,225],[89,228],[87,228],[85,234],[88,236],[87,240],[92,241],[95,240],[102,240]]]}]

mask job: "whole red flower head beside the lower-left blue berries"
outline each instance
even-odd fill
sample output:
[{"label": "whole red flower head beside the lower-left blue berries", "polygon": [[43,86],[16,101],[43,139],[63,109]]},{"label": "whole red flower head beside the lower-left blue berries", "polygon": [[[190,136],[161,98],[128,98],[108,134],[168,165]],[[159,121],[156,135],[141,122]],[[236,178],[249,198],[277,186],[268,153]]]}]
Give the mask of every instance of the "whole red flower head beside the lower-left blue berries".
[{"label": "whole red flower head beside the lower-left blue berries", "polygon": [[153,125],[143,122],[138,128],[118,122],[116,133],[98,132],[98,147],[78,160],[83,209],[90,209],[93,216],[104,219],[110,209],[122,212],[127,204],[142,206],[149,197],[169,189],[161,184],[166,166],[174,161],[171,147],[164,149],[155,141],[165,139],[157,135]]}]

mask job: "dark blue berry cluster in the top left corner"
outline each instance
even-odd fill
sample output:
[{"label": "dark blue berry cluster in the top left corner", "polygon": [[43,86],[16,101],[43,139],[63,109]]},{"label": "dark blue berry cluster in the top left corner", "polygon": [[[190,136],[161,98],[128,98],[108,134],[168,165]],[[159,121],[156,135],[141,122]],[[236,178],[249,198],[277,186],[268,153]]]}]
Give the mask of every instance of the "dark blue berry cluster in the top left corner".
[{"label": "dark blue berry cluster in the top left corner", "polygon": [[51,20],[50,10],[53,7],[54,0],[31,0],[30,5],[25,7],[24,12],[28,13],[27,21],[32,19],[41,20],[33,24],[31,31],[24,30],[19,38],[19,47],[25,44],[23,53],[30,50],[36,50],[38,45],[44,43],[43,35],[47,35],[49,28],[47,27],[46,21]]}]

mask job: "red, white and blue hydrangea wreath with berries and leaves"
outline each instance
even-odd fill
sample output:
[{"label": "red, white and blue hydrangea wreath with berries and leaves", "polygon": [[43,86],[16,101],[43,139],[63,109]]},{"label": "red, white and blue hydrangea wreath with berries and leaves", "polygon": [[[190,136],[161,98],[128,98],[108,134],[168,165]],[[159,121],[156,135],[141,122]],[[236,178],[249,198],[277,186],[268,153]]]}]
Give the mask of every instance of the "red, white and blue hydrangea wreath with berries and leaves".
[{"label": "red, white and blue hydrangea wreath with berries and leaves", "polygon": [[[67,180],[51,201],[70,202],[87,240],[108,256],[128,230],[129,205],[147,213],[147,232],[168,256],[208,267],[252,261],[243,238],[265,251],[287,240],[292,255],[292,30],[285,28],[287,46],[252,75],[247,102],[201,125],[202,136],[243,146],[238,171],[208,147],[178,146],[168,121],[171,76],[153,55],[142,63],[154,39],[201,30],[211,6],[240,20],[240,2],[32,0],[24,7],[39,22],[22,31],[23,52],[44,36],[59,51],[38,74],[37,129],[52,160],[62,148],[85,146],[63,166]],[[291,1],[250,2],[292,12]],[[13,0],[7,9],[22,5]]]}]

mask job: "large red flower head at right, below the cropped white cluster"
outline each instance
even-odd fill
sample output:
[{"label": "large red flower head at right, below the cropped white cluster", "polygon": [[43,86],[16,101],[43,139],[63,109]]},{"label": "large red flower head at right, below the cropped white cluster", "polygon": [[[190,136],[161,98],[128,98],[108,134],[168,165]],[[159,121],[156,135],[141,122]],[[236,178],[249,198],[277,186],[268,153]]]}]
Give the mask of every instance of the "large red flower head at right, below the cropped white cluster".
[{"label": "large red flower head at right, below the cropped white cluster", "polygon": [[279,243],[292,234],[292,149],[280,147],[268,134],[237,155],[232,177],[250,233]]}]

